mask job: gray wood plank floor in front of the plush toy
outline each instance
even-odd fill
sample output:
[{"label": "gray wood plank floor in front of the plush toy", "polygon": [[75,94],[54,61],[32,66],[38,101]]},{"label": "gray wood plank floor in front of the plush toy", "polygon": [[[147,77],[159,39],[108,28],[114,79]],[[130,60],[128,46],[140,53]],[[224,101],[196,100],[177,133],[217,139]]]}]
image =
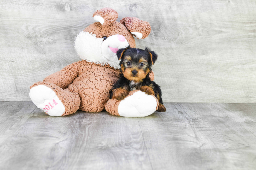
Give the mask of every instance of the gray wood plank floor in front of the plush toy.
[{"label": "gray wood plank floor in front of the plush toy", "polygon": [[165,103],[142,118],[0,102],[0,169],[256,169],[255,103]]}]

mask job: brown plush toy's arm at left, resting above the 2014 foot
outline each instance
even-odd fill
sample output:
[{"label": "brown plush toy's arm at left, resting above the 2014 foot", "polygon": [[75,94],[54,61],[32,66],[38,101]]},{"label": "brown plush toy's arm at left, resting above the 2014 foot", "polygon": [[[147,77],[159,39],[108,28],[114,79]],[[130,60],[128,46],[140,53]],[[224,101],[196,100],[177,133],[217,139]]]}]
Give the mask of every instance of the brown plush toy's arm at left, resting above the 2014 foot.
[{"label": "brown plush toy's arm at left, resting above the 2014 foot", "polygon": [[74,62],[62,70],[47,76],[43,82],[53,83],[62,89],[66,89],[69,84],[78,76],[80,61]]}]

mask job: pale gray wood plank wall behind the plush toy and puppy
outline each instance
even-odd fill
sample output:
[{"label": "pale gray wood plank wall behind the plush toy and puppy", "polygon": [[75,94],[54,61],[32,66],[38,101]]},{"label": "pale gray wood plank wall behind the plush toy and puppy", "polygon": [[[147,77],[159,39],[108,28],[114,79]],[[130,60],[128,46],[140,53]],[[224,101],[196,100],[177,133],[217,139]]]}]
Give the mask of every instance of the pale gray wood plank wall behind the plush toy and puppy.
[{"label": "pale gray wood plank wall behind the plush toy and puppy", "polygon": [[111,7],[151,24],[138,48],[164,102],[256,102],[256,1],[0,1],[0,100],[30,100],[29,86],[78,61],[76,35]]}]

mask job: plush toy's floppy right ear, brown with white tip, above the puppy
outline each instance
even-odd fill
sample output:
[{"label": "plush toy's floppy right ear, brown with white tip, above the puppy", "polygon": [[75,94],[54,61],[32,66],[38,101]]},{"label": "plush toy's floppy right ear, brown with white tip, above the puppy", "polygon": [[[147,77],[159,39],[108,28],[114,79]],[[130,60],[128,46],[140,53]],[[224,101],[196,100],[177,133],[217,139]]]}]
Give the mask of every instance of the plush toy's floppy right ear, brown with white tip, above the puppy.
[{"label": "plush toy's floppy right ear, brown with white tip, above the puppy", "polygon": [[151,32],[150,24],[136,17],[125,17],[121,19],[120,23],[138,39],[146,38]]}]

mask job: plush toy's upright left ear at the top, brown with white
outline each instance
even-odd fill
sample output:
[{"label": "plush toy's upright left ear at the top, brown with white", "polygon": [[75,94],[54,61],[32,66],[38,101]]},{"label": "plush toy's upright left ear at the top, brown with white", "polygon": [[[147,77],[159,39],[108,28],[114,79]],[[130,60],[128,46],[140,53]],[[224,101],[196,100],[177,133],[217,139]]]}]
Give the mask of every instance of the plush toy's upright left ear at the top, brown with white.
[{"label": "plush toy's upright left ear at the top, brown with white", "polygon": [[118,18],[118,13],[112,8],[102,8],[93,13],[94,20],[101,23],[103,27],[112,24]]}]

